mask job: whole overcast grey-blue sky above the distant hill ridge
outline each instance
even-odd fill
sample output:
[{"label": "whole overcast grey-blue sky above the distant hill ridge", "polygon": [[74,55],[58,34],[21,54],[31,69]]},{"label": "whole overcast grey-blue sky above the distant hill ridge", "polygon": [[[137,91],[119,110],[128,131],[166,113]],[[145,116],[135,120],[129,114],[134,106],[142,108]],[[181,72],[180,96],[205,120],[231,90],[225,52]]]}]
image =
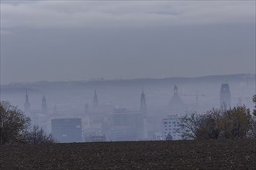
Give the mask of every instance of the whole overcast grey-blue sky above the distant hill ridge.
[{"label": "whole overcast grey-blue sky above the distant hill ridge", "polygon": [[1,83],[255,73],[255,1],[1,1]]}]

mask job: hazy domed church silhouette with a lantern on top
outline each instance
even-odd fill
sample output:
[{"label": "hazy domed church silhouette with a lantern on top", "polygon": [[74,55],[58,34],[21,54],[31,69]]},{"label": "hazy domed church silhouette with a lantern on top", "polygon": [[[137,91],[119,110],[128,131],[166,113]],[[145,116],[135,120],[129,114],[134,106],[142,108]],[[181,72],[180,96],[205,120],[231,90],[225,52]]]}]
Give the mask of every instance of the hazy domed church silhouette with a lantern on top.
[{"label": "hazy domed church silhouette with a lantern on top", "polygon": [[180,114],[185,113],[186,107],[184,102],[182,101],[182,98],[178,95],[178,87],[175,85],[174,87],[174,93],[171,97],[171,101],[169,103],[170,112],[171,114]]}]

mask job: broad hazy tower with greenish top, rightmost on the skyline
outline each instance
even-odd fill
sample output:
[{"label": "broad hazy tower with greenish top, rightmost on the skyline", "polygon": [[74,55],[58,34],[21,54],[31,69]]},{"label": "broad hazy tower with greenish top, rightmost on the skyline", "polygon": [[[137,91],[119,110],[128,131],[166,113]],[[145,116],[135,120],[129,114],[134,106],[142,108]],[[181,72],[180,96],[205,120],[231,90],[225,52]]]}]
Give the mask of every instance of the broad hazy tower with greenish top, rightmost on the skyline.
[{"label": "broad hazy tower with greenish top, rightmost on the skyline", "polygon": [[231,107],[230,86],[227,82],[222,83],[220,87],[220,108],[227,109]]}]

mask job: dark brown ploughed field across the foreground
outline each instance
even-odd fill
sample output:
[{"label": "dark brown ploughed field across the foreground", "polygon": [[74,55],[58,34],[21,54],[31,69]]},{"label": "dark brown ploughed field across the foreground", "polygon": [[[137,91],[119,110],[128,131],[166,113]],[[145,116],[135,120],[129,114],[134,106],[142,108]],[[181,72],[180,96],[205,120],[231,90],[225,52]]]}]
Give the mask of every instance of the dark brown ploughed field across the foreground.
[{"label": "dark brown ploughed field across the foreground", "polygon": [[2,145],[0,169],[256,169],[256,141]]}]

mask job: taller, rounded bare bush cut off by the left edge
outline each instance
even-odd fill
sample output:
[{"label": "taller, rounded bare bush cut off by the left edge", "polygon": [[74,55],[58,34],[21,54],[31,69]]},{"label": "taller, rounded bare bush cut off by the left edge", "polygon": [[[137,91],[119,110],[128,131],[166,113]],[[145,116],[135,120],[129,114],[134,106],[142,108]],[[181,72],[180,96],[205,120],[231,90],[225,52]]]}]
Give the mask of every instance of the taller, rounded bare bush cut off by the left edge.
[{"label": "taller, rounded bare bush cut off by the left edge", "polygon": [[22,141],[30,119],[7,101],[0,102],[0,145]]}]

